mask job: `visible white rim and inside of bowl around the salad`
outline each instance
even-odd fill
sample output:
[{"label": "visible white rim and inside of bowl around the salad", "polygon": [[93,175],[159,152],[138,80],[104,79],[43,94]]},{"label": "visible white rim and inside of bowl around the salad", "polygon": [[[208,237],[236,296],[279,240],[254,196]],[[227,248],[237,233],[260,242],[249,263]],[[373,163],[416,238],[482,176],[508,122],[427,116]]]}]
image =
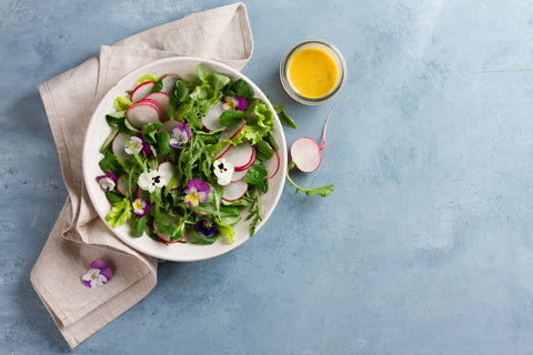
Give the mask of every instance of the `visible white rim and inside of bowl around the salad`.
[{"label": "visible white rim and inside of bowl around the salad", "polygon": [[[100,184],[97,182],[95,178],[103,174],[98,163],[103,158],[103,155],[100,153],[100,149],[111,132],[111,128],[105,121],[105,114],[115,111],[113,105],[114,99],[119,95],[124,95],[127,90],[134,88],[137,79],[147,73],[157,77],[164,73],[172,73],[180,75],[185,81],[192,80],[197,74],[197,65],[199,63],[202,63],[207,71],[228,75],[233,81],[238,79],[248,81],[255,92],[255,98],[265,102],[272,112],[274,112],[266,95],[252,81],[250,81],[250,79],[234,69],[212,60],[192,57],[168,58],[154,61],[132,71],[121,79],[113,88],[111,88],[105,97],[103,97],[90,120],[86,134],[86,141],[83,143],[83,179],[92,204],[94,205],[94,209],[102,219],[103,223],[105,223],[105,215],[110,212],[111,205],[105,199],[105,194],[100,187]],[[274,178],[269,180],[268,193],[261,195],[260,197],[263,221],[258,223],[254,237],[260,237],[258,232],[261,230],[261,226],[266,223],[270,215],[274,211],[285,182],[286,143],[283,129],[275,112],[273,136],[279,145],[278,152],[280,155],[280,170]],[[250,239],[250,233],[249,222],[244,221],[247,215],[248,211],[242,211],[242,221],[234,225],[235,242],[232,244],[227,243],[222,237],[220,237],[215,243],[210,245],[191,243],[175,243],[165,245],[163,243],[153,241],[147,234],[142,235],[141,237],[130,236],[130,226],[125,224],[119,227],[110,227],[110,230],[122,242],[141,253],[168,261],[191,262],[222,255],[248,241]]]}]

